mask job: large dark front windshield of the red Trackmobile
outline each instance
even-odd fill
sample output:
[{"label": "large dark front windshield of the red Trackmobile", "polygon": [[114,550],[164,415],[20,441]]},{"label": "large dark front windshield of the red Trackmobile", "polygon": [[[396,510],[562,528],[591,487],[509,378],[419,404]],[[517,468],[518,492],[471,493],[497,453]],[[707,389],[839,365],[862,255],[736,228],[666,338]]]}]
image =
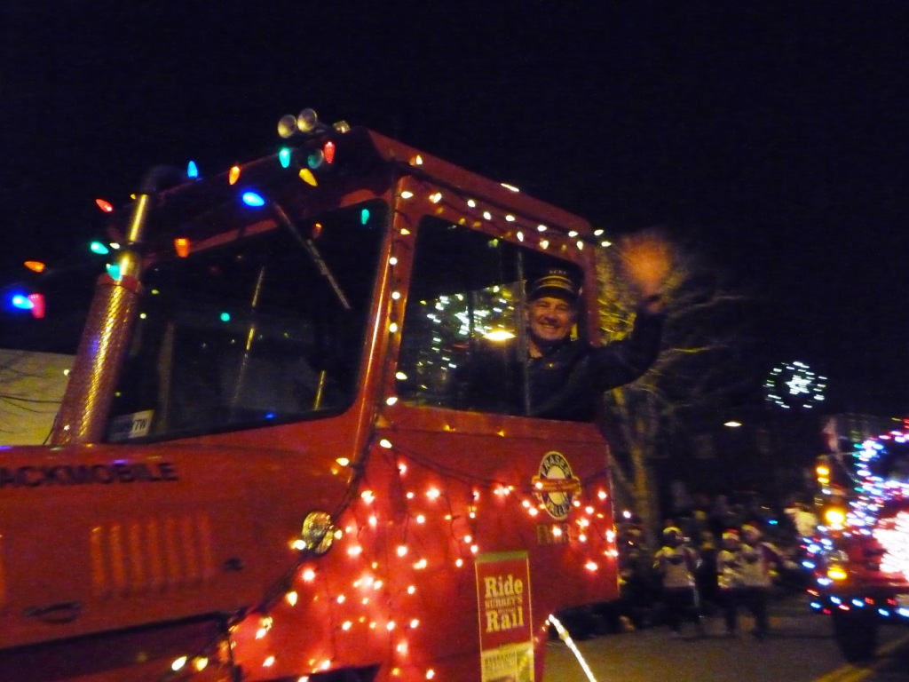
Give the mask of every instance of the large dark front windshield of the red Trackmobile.
[{"label": "large dark front windshield of the red Trackmobile", "polygon": [[264,426],[350,406],[385,206],[298,225],[280,213],[261,234],[146,269],[109,440]]}]

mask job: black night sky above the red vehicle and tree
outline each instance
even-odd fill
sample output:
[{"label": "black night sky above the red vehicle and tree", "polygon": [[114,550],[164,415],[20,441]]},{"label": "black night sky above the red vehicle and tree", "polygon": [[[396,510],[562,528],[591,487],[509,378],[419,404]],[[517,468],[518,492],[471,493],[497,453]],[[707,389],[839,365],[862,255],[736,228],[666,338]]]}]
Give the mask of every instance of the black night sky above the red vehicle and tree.
[{"label": "black night sky above the red vehicle and tree", "polygon": [[754,366],[904,415],[909,9],[601,5],[5,0],[0,289],[85,261],[95,197],[271,153],[312,106],[611,234],[666,226],[754,298]]}]

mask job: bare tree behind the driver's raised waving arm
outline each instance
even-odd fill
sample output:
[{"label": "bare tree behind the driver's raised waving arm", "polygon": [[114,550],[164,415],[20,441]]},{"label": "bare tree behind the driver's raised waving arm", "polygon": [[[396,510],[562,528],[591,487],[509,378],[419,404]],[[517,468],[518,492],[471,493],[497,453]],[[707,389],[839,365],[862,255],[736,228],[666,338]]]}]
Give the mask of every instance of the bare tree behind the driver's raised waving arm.
[{"label": "bare tree behind the driver's raised waving arm", "polygon": [[[609,341],[634,326],[634,292],[620,272],[614,257],[602,252],[600,320]],[[691,415],[724,404],[753,383],[741,371],[748,299],[725,286],[721,275],[691,251],[677,252],[664,290],[664,350],[644,376],[604,396],[614,483],[651,537],[661,521],[654,475],[654,460],[664,456],[661,445],[679,436]]]}]

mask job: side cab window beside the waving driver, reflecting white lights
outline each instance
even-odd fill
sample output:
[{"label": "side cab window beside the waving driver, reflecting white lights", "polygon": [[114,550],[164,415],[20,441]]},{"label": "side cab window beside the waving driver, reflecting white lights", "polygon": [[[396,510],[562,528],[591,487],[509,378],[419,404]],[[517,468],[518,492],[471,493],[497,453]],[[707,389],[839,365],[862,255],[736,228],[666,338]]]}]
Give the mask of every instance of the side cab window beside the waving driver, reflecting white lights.
[{"label": "side cab window beside the waving driver, reflecting white lights", "polygon": [[524,280],[575,266],[425,217],[405,307],[397,394],[407,403],[527,414]]}]

